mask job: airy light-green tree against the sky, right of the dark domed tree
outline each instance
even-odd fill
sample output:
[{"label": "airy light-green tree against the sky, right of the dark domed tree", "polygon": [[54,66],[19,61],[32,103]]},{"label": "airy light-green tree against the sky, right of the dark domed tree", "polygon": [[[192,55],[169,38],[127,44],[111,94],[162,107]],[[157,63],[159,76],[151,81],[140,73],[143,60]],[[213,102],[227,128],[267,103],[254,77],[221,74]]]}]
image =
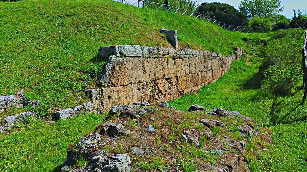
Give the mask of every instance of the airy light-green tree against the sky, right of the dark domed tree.
[{"label": "airy light-green tree against the sky, right of the dark domed tree", "polygon": [[284,7],[280,3],[281,0],[242,0],[239,9],[248,20],[253,17],[270,18],[282,12]]}]

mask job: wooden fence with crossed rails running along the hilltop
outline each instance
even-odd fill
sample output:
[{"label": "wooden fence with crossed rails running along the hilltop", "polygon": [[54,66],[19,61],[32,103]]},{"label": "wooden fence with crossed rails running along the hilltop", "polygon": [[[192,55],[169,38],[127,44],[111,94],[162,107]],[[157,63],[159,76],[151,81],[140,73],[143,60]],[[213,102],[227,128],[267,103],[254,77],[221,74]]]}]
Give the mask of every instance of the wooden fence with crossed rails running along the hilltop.
[{"label": "wooden fence with crossed rails running along the hilltop", "polygon": [[274,24],[274,25],[265,25],[265,26],[254,26],[254,27],[248,27],[248,26],[234,26],[234,25],[228,25],[226,23],[220,22],[216,20],[216,18],[205,16],[204,14],[191,11],[191,10],[185,10],[180,7],[160,4],[157,2],[150,2],[146,0],[115,0],[117,2],[121,2],[124,4],[129,4],[138,8],[153,8],[156,10],[166,10],[170,13],[176,13],[179,15],[185,15],[189,17],[198,18],[201,21],[211,22],[212,24],[216,24],[217,26],[220,26],[221,28],[229,31],[238,31],[238,32],[270,32],[278,29],[289,29],[289,28],[306,28],[307,23],[306,21],[302,21],[300,24],[294,23],[292,25],[288,25],[285,23],[280,24]]}]

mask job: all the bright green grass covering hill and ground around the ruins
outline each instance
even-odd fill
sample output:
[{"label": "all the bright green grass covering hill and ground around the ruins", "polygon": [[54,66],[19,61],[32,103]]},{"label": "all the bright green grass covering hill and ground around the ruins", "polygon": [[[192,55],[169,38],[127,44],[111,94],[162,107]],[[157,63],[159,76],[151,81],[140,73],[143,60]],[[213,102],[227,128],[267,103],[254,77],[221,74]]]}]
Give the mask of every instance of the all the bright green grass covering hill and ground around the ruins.
[{"label": "all the bright green grass covering hill and ground around the ruins", "polygon": [[[170,46],[159,33],[161,28],[178,30],[180,47],[227,55],[238,46],[247,53],[219,81],[171,105],[181,110],[192,104],[221,107],[253,117],[272,131],[274,144],[266,145],[269,150],[258,155],[255,145],[248,147],[251,170],[306,171],[307,123],[296,121],[307,114],[306,105],[298,105],[302,92],[274,97],[259,85],[262,59],[258,56],[263,43],[276,38],[278,32],[229,32],[165,11],[101,0],[0,2],[0,28],[0,95],[25,90],[30,100],[41,101],[41,108],[36,109],[39,115],[47,115],[28,119],[9,135],[0,135],[2,171],[59,171],[68,145],[93,131],[105,115],[81,115],[52,124],[48,114],[87,101],[83,91],[96,87],[96,75],[105,64],[96,58],[100,46]],[[14,110],[18,111],[22,109]],[[286,120],[276,123],[283,117]]]}]

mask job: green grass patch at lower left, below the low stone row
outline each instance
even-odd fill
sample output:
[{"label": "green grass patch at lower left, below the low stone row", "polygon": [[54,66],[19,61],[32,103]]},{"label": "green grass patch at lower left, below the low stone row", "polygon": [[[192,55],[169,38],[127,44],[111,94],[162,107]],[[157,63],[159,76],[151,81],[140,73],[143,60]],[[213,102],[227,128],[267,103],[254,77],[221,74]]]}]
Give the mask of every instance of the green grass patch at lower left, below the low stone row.
[{"label": "green grass patch at lower left, below the low stone row", "polygon": [[80,115],[55,124],[34,120],[21,131],[0,135],[0,171],[60,171],[68,145],[92,132],[103,117]]}]

